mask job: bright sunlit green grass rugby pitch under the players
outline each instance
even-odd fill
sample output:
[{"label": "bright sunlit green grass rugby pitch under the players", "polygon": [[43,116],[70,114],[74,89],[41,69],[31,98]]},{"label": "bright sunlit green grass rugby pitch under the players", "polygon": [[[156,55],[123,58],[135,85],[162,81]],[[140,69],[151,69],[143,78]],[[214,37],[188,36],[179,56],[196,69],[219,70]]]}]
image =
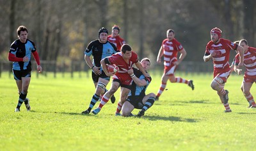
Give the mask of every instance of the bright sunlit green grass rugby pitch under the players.
[{"label": "bright sunlit green grass rugby pitch under the players", "polygon": [[[256,110],[247,108],[240,90],[243,76],[231,75],[225,87],[232,113],[223,113],[225,108],[209,86],[211,74],[177,73],[193,79],[195,90],[169,82],[144,117],[124,118],[115,116],[117,104],[110,101],[98,115],[81,115],[94,92],[90,76],[82,74],[83,78],[53,78],[51,73],[36,78],[33,73],[28,93],[31,111],[22,104],[15,113],[17,87],[3,73],[0,150],[255,150]],[[152,79],[147,92],[156,93],[161,75]],[[254,85],[251,92],[255,96]],[[119,91],[117,99],[118,95]]]}]

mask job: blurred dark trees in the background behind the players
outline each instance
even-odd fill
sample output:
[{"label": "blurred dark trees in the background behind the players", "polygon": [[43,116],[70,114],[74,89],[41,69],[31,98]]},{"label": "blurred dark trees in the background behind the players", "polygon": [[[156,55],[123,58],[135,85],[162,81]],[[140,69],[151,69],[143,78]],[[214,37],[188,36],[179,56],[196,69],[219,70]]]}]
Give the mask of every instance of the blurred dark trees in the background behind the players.
[{"label": "blurred dark trees in the background behind the players", "polygon": [[223,38],[245,38],[256,47],[255,8],[253,0],[0,0],[0,59],[7,61],[16,29],[25,25],[40,59],[84,63],[84,49],[100,27],[111,34],[116,24],[140,59],[149,57],[154,64],[172,28],[188,52],[184,61],[202,62],[213,27],[220,27]]}]

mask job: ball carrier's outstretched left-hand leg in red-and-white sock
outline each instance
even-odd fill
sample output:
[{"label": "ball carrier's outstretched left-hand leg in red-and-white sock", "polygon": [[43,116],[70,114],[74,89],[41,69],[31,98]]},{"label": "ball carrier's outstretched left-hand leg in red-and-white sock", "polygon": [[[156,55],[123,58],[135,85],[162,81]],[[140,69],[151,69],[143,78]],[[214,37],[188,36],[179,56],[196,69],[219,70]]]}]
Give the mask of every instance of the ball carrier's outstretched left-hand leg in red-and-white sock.
[{"label": "ball carrier's outstretched left-hand leg in red-and-white sock", "polygon": [[111,87],[110,89],[108,90],[108,92],[106,92],[104,94],[104,96],[102,97],[102,99],[100,100],[100,104],[98,106],[98,108],[96,108],[95,110],[92,111],[93,114],[97,114],[100,112],[101,108],[106,104],[108,103],[110,97],[116,92],[116,90],[118,90],[120,86],[120,83],[119,82],[116,82],[116,81],[113,81],[111,83]]}]

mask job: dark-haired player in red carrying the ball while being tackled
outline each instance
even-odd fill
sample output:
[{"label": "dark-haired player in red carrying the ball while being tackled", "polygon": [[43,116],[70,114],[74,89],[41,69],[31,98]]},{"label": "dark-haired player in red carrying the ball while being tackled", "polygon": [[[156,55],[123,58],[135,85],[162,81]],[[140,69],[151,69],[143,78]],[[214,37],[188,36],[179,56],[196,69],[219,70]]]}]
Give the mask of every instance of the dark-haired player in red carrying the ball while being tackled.
[{"label": "dark-haired player in red carrying the ball while being tackled", "polygon": [[120,92],[120,101],[118,103],[118,106],[116,108],[116,115],[120,115],[120,111],[122,109],[122,105],[126,101],[126,97],[129,94],[129,91],[131,89],[131,83],[132,83],[132,76],[129,75],[127,71],[129,69],[132,69],[132,65],[135,64],[138,69],[143,73],[143,75],[148,76],[148,74],[143,69],[143,66],[141,65],[140,61],[138,61],[138,55],[135,52],[132,52],[132,48],[124,44],[121,47],[121,52],[118,52],[114,55],[111,55],[110,57],[106,57],[105,59],[102,59],[100,61],[102,65],[103,71],[108,76],[112,76],[113,73],[108,73],[108,69],[106,64],[116,64],[118,66],[119,70],[118,72],[113,75],[113,82],[111,83],[111,88],[104,94],[102,97],[100,104],[98,108],[92,111],[93,114],[99,113],[101,108],[104,106],[104,104],[108,103],[109,98],[116,92],[116,90],[121,87]]}]

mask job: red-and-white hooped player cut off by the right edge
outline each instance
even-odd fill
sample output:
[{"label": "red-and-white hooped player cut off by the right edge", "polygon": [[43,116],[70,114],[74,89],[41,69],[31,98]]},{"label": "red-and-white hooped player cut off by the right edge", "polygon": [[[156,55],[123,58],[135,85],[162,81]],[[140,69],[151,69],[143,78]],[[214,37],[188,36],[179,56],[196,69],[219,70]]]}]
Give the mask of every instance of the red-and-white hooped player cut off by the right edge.
[{"label": "red-and-white hooped player cut off by the right edge", "polygon": [[[248,42],[244,39],[239,41],[239,45],[244,48],[244,66],[246,69],[244,72],[241,90],[243,91],[244,97],[249,103],[248,108],[256,108],[255,101],[252,94],[250,93],[252,84],[256,82],[256,48],[248,47]],[[237,54],[235,57],[236,66],[234,66],[234,71],[239,69],[239,61],[240,56]]]}]

